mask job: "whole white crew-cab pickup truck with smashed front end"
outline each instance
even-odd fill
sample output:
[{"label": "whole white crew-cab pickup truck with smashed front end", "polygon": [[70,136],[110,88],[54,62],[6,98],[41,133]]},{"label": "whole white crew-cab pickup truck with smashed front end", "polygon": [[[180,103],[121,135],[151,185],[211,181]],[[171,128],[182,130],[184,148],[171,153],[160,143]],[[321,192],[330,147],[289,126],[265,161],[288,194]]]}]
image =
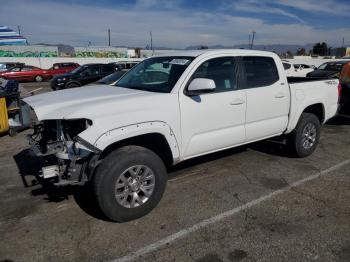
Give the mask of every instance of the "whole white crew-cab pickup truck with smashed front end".
[{"label": "whole white crew-cab pickup truck with smashed front end", "polygon": [[338,81],[288,78],[280,58],[249,50],[152,57],[116,86],[24,100],[37,125],[29,141],[47,158],[43,178],[91,182],[104,214],[129,221],[160,201],[167,167],[284,135],[299,157],[316,148],[338,107]]}]

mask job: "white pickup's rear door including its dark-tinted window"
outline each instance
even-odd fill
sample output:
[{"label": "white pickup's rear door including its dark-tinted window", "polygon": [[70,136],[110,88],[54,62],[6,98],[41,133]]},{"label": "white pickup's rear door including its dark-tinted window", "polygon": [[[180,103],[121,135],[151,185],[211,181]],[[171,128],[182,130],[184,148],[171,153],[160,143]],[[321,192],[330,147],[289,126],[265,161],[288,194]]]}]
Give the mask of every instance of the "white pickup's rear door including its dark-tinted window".
[{"label": "white pickup's rear door including its dark-tinted window", "polygon": [[247,94],[246,139],[259,140],[281,134],[288,125],[289,86],[283,68],[272,57],[240,58]]}]

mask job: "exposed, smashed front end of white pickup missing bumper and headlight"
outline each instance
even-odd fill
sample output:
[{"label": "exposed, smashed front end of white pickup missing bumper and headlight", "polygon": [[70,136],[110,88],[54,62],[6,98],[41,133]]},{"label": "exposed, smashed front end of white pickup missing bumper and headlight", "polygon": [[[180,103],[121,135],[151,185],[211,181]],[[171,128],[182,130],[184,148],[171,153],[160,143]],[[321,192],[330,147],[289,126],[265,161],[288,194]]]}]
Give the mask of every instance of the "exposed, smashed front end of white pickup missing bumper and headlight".
[{"label": "exposed, smashed front end of white pickup missing bumper and headlight", "polygon": [[28,135],[34,153],[44,158],[41,176],[56,185],[84,184],[92,176],[101,151],[79,137],[88,119],[44,120]]}]

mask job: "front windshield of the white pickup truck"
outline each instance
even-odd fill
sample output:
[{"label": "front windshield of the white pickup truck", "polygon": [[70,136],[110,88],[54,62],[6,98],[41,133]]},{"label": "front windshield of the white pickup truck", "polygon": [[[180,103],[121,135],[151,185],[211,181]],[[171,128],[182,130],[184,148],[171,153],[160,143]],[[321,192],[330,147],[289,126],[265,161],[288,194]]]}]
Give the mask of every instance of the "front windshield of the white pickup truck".
[{"label": "front windshield of the white pickup truck", "polygon": [[170,93],[194,57],[149,58],[127,72],[116,85],[151,92]]}]

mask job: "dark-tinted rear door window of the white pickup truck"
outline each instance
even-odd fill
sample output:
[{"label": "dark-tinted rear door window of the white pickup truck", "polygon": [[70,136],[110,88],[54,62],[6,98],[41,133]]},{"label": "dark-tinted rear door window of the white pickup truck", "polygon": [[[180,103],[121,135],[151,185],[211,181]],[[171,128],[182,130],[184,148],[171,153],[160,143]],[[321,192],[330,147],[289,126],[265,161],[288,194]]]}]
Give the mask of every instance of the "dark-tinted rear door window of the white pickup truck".
[{"label": "dark-tinted rear door window of the white pickup truck", "polygon": [[247,88],[270,86],[279,80],[272,57],[245,56],[242,60]]}]

